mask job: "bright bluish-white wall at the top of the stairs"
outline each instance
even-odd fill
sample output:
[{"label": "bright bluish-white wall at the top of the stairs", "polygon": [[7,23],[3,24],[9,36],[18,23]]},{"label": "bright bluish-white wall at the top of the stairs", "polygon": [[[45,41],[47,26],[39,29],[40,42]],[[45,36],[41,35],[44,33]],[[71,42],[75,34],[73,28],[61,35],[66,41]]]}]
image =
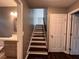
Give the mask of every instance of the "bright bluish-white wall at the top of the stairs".
[{"label": "bright bluish-white wall at the top of the stairs", "polygon": [[34,25],[43,24],[44,9],[33,9]]}]

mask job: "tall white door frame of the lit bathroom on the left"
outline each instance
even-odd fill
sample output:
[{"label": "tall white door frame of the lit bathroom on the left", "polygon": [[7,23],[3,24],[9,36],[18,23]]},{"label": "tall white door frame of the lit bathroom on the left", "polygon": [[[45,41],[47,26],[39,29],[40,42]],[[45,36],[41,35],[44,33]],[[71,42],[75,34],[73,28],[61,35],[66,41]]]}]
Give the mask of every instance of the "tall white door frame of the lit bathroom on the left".
[{"label": "tall white door frame of the lit bathroom on the left", "polygon": [[23,59],[23,3],[21,0],[15,0],[17,3],[17,59]]}]

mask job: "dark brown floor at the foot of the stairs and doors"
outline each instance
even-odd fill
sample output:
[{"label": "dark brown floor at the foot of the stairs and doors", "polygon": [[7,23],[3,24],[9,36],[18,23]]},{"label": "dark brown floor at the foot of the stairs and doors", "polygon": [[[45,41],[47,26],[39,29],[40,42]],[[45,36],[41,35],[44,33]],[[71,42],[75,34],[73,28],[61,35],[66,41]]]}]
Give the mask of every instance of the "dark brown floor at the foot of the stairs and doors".
[{"label": "dark brown floor at the foot of the stairs and doors", "polygon": [[71,56],[65,53],[49,53],[48,56],[29,55],[28,59],[79,59],[79,56]]}]

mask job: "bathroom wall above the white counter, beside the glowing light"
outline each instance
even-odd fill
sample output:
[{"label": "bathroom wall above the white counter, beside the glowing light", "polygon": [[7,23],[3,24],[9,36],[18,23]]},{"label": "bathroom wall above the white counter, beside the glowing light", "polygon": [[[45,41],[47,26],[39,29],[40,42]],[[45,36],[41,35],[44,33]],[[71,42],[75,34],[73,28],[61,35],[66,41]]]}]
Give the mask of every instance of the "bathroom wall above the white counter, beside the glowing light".
[{"label": "bathroom wall above the white counter, beside the glowing light", "polygon": [[10,12],[16,12],[16,7],[0,7],[0,36],[11,36],[13,33]]}]

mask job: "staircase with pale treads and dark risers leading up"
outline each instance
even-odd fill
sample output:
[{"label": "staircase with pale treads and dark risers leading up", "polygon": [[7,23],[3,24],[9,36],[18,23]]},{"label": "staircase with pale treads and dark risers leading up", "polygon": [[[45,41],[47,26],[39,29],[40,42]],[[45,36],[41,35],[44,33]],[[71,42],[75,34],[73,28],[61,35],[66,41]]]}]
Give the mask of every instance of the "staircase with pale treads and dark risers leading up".
[{"label": "staircase with pale treads and dark risers leading up", "polygon": [[43,25],[36,25],[30,41],[28,59],[47,59],[47,55],[45,28]]}]

